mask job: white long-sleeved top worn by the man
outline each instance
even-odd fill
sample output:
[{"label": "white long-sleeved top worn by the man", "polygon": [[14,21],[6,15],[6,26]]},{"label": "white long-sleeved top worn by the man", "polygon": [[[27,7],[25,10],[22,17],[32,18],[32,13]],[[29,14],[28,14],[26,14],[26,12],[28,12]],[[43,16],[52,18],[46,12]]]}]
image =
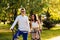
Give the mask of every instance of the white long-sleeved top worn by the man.
[{"label": "white long-sleeved top worn by the man", "polygon": [[27,16],[22,16],[22,15],[17,16],[13,25],[11,26],[11,29],[14,28],[17,22],[18,22],[18,29],[20,31],[30,32],[29,20]]}]

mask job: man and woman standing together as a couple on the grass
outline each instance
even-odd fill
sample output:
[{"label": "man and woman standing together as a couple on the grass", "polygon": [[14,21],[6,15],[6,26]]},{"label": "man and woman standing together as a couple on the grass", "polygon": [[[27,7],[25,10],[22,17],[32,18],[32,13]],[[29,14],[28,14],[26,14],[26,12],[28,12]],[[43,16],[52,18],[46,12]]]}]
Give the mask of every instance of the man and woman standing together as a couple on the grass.
[{"label": "man and woman standing together as a couple on the grass", "polygon": [[17,16],[10,30],[13,30],[16,23],[18,23],[18,30],[13,36],[13,40],[17,40],[18,36],[22,35],[23,40],[27,40],[28,33],[31,33],[32,40],[40,40],[40,22],[37,20],[36,15],[31,15],[31,21],[29,22],[28,17],[25,15],[26,11],[21,8],[21,15]]}]

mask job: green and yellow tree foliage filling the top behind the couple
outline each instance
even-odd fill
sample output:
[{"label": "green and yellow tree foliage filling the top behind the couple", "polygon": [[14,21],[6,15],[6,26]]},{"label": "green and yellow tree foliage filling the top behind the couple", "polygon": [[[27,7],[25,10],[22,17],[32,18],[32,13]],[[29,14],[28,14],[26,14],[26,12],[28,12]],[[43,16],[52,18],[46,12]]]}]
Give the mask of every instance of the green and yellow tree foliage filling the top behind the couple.
[{"label": "green and yellow tree foliage filling the top behind the couple", "polygon": [[60,20],[60,17],[57,16],[60,14],[60,0],[0,0],[0,17],[2,17],[0,19],[4,20],[5,14],[5,18],[10,19],[9,14],[12,13],[14,15],[13,10],[18,10],[21,6],[26,8],[27,14],[36,13],[38,15],[44,13],[44,11],[46,12],[49,7],[50,18]]}]

